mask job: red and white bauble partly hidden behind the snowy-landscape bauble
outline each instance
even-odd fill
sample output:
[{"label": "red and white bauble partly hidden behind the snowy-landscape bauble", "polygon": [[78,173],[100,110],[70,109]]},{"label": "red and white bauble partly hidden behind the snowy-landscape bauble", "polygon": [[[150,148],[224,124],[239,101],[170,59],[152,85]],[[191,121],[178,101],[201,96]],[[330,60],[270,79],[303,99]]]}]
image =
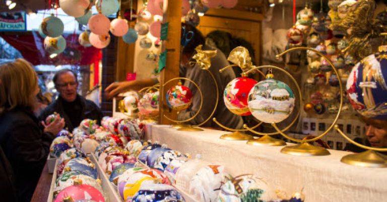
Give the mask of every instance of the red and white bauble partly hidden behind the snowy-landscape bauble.
[{"label": "red and white bauble partly hidden behind the snowy-landscape bauble", "polygon": [[228,83],[223,93],[227,109],[237,115],[251,115],[247,106],[247,96],[256,83],[255,80],[247,77],[236,78]]}]

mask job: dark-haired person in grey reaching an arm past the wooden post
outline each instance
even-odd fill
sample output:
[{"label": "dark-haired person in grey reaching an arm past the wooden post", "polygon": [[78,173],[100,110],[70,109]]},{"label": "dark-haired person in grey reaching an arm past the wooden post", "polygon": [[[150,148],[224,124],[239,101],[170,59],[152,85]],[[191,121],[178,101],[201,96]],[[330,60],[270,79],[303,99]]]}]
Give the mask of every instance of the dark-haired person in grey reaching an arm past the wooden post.
[{"label": "dark-haired person in grey reaching an arm past the wooden post", "polygon": [[[195,82],[196,84],[198,84],[199,88],[203,93],[203,99],[204,99],[202,109],[199,112],[198,116],[186,123],[189,123],[189,124],[202,123],[211,115],[211,112],[213,111],[216,104],[216,87],[210,74],[207,71],[200,69],[198,65],[193,65],[193,66],[189,65],[190,59],[196,53],[195,48],[198,45],[203,45],[203,48],[202,48],[203,50],[217,50],[217,55],[211,58],[211,68],[209,69],[211,73],[214,75],[216,83],[218,84],[218,87],[219,87],[219,93],[218,93],[219,102],[213,117],[216,117],[220,123],[228,127],[241,128],[242,118],[240,116],[237,116],[231,113],[226,108],[222,100],[223,99],[222,93],[226,85],[232,79],[235,79],[235,74],[232,71],[232,69],[227,69],[223,73],[219,73],[220,69],[229,65],[225,55],[219,49],[215,49],[211,46],[204,45],[205,39],[202,33],[195,27],[183,23],[182,28],[185,28],[185,33],[193,32],[193,35],[192,35],[193,37],[191,40],[186,40],[185,38],[186,36],[181,37],[182,44],[184,44],[184,46],[181,47],[180,72],[185,72],[185,76],[183,75],[185,78],[188,78],[193,82]],[[182,30],[181,33],[183,35],[184,31]],[[106,96],[110,98],[112,96],[115,96],[119,93],[122,93],[128,90],[138,90],[146,86],[154,85],[157,82],[158,81],[155,81],[153,79],[147,79],[142,81],[113,83],[105,89],[105,92],[106,92]],[[200,103],[201,103],[201,97],[196,87],[188,81],[185,81],[184,85],[187,86],[192,91],[192,94],[193,94],[192,104],[187,110],[181,111],[178,114],[178,120],[185,120],[187,118],[192,117],[199,110]],[[204,126],[219,127],[216,123],[212,121],[212,119],[210,119]]]}]

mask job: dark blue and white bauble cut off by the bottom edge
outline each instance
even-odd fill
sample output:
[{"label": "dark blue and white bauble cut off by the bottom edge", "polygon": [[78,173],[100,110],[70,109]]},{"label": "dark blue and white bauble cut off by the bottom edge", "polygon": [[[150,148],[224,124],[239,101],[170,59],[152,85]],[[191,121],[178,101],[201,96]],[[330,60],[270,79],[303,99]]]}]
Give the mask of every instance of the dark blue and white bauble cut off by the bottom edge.
[{"label": "dark blue and white bauble cut off by the bottom edge", "polygon": [[133,196],[132,202],[184,202],[184,197],[172,186],[166,184],[146,184]]}]

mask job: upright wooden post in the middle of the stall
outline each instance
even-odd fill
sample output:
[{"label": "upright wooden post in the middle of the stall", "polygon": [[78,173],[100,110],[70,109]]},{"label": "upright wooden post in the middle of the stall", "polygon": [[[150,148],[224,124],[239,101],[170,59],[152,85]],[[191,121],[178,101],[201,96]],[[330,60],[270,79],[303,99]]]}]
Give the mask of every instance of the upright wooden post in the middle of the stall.
[{"label": "upright wooden post in the middle of the stall", "polygon": [[177,114],[170,112],[165,100],[165,95],[168,89],[176,85],[176,83],[169,83],[163,88],[165,82],[170,79],[179,76],[180,68],[180,34],[181,34],[181,0],[164,0],[164,18],[163,23],[168,22],[168,37],[163,42],[162,50],[168,50],[167,61],[163,71],[160,73],[160,106],[159,123],[160,124],[171,124],[164,115],[176,119]]}]

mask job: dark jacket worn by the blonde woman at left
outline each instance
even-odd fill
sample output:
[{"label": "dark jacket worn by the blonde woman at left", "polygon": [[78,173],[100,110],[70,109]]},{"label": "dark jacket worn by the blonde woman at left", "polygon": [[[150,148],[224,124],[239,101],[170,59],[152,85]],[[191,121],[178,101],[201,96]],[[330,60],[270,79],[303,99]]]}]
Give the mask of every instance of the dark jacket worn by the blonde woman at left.
[{"label": "dark jacket worn by the blonde woman at left", "polygon": [[22,107],[0,115],[0,128],[0,145],[15,175],[18,199],[30,201],[54,139],[53,134],[43,133],[34,113]]}]

